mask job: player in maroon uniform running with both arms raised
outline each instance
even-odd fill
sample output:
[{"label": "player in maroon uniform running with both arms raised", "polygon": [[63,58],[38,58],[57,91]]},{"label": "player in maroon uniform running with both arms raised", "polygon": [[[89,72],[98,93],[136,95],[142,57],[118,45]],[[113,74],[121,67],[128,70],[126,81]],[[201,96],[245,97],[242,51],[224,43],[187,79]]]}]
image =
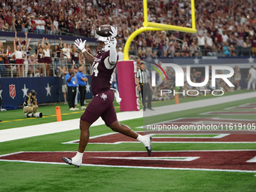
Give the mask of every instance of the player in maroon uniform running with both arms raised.
[{"label": "player in maroon uniform running with both arms raised", "polygon": [[87,106],[80,119],[80,141],[78,152],[75,157],[62,157],[69,165],[81,166],[84,149],[89,140],[89,128],[99,117],[105,121],[106,126],[115,132],[122,133],[142,142],[147,148],[148,155],[151,154],[151,137],[141,136],[117,120],[117,114],[114,110],[114,93],[110,90],[111,75],[117,64],[117,28],[111,26],[110,37],[99,37],[96,40],[96,56],[92,56],[85,48],[86,40],[77,39],[75,45],[84,54],[84,57],[92,65],[92,90],[93,100]]}]

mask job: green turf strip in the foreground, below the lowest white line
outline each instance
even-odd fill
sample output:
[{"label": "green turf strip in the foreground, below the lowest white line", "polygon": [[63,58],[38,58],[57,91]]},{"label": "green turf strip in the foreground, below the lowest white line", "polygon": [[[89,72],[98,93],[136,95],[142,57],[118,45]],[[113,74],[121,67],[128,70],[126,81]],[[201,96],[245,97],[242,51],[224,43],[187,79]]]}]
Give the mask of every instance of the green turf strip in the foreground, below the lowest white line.
[{"label": "green turf strip in the foreground, below the lowest white line", "polygon": [[[253,174],[12,163],[1,191],[254,191]],[[28,176],[29,175],[29,176]]]}]

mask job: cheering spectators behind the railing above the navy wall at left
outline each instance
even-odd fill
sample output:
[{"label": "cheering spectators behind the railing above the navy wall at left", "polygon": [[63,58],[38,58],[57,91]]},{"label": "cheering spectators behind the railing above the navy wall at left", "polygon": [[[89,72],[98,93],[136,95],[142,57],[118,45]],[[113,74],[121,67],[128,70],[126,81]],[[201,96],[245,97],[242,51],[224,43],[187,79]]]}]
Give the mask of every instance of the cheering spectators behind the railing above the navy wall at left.
[{"label": "cheering spectators behind the railing above the navy wall at left", "polygon": [[[15,32],[14,50],[10,46],[3,48],[0,41],[0,77],[49,77],[57,76],[60,73],[59,67],[71,68],[75,63],[78,66],[84,63],[84,56],[77,50],[75,45],[62,44],[62,38],[59,38],[59,45],[51,46],[47,38],[38,40],[35,49],[30,47],[31,39],[18,38]],[[86,49],[90,50],[89,44]],[[90,68],[86,66],[86,72],[90,74]]]}]

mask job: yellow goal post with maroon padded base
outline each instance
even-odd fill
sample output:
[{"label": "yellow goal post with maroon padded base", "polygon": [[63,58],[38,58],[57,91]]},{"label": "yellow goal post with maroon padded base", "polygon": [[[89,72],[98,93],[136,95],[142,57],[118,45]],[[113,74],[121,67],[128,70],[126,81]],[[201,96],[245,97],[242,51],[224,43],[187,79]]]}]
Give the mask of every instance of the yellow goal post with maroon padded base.
[{"label": "yellow goal post with maroon padded base", "polygon": [[120,93],[120,111],[139,111],[139,91],[136,84],[136,72],[137,72],[137,63],[135,61],[129,60],[129,48],[133,39],[136,38],[142,32],[145,31],[162,31],[162,30],[172,30],[179,32],[190,32],[196,33],[196,17],[195,17],[195,8],[194,0],[191,2],[191,28],[183,26],[172,26],[163,23],[152,23],[148,22],[148,2],[143,0],[143,13],[144,13],[144,22],[143,26],[136,31],[134,31],[130,37],[127,39],[126,44],[123,48],[123,61],[117,62],[117,82],[118,90]]}]

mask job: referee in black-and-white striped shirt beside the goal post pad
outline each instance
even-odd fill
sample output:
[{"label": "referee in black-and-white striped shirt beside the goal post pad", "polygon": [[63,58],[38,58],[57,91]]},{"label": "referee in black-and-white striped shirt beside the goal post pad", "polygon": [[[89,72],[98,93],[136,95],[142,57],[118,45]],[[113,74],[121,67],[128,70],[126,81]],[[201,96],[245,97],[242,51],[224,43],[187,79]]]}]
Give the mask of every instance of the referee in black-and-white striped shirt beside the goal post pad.
[{"label": "referee in black-and-white striped shirt beside the goal post pad", "polygon": [[152,100],[151,79],[148,71],[145,69],[145,62],[140,63],[140,69],[137,71],[137,74],[136,74],[136,84],[138,86],[138,90],[140,90],[142,93],[143,111],[146,110],[146,105],[145,105],[146,96],[148,96],[148,109],[154,111],[154,109],[151,108],[151,100]]}]

